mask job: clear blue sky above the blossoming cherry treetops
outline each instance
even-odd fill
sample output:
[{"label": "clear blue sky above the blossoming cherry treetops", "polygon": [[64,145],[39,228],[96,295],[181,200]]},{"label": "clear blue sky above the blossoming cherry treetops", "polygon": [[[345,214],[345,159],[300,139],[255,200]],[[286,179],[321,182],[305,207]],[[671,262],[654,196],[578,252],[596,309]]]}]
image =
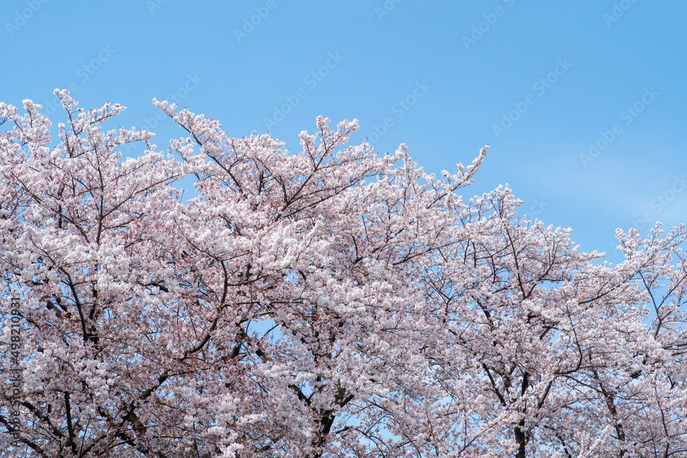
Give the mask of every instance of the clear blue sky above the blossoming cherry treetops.
[{"label": "clear blue sky above the blossoming cherry treetops", "polygon": [[354,142],[405,142],[429,172],[489,144],[465,194],[509,183],[523,213],[609,251],[616,227],[687,222],[686,16],[677,0],[4,0],[0,100],[51,113],[71,85],[160,148],[181,134],[153,98],[292,150],[317,115],[357,117]]}]

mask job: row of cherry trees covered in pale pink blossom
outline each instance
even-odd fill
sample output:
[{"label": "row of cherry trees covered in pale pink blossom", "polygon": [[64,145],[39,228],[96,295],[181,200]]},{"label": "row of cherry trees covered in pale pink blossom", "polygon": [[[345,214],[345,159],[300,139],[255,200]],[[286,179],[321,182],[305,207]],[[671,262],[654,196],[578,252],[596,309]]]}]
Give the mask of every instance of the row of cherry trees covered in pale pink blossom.
[{"label": "row of cherry trees covered in pale pink blossom", "polygon": [[289,152],[155,101],[166,155],[56,93],[58,139],[0,104],[3,457],[687,456],[684,227],[614,266],[464,200],[487,147],[439,179],[356,120]]}]

